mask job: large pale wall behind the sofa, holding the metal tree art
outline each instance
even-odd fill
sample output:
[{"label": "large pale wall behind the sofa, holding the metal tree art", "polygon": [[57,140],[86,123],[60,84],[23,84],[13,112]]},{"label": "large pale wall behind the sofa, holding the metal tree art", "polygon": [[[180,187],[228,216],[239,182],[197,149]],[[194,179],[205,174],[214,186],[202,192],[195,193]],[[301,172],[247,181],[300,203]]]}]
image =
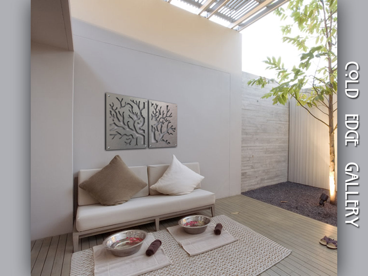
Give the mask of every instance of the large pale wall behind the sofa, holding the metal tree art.
[{"label": "large pale wall behind the sofa, holding the metal tree art", "polygon": [[[217,198],[239,194],[240,33],[161,0],[83,2],[71,1],[74,174],[115,154],[128,165],[175,154],[201,163]],[[105,151],[105,92],[177,103],[178,147]]]}]

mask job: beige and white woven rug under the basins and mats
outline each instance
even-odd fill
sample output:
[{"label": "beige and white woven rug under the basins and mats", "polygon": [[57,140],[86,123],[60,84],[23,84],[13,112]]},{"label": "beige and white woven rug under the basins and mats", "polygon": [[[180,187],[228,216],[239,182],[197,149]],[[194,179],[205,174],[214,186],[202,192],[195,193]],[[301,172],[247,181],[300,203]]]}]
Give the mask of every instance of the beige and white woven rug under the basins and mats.
[{"label": "beige and white woven rug under the basins and mats", "polygon": [[[173,264],[143,275],[255,276],[291,253],[291,250],[225,215],[213,217],[212,222],[221,223],[223,229],[239,240],[199,255],[189,256],[169,231],[165,229],[153,232],[153,236],[162,241],[161,246]],[[70,276],[93,276],[93,271],[92,248],[73,253]]]}]

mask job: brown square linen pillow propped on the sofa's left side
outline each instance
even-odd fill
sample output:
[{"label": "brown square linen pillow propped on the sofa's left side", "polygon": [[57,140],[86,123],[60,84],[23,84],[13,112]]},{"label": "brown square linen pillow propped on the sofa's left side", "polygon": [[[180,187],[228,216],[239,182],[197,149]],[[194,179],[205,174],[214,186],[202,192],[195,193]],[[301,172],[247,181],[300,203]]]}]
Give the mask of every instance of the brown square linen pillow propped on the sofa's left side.
[{"label": "brown square linen pillow propped on the sofa's left side", "polygon": [[116,155],[98,173],[79,184],[79,187],[89,192],[102,205],[117,205],[127,202],[146,185]]}]

